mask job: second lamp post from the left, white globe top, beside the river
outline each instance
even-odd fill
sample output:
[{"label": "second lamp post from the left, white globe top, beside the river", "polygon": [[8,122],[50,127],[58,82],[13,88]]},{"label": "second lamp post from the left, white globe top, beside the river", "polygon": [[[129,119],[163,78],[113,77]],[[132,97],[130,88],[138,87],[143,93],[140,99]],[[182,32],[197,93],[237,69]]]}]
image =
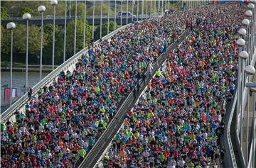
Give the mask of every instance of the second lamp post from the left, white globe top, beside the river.
[{"label": "second lamp post from the left, white globe top, beside the river", "polygon": [[28,91],[28,20],[31,19],[31,14],[25,13],[22,16],[26,20],[26,91]]}]

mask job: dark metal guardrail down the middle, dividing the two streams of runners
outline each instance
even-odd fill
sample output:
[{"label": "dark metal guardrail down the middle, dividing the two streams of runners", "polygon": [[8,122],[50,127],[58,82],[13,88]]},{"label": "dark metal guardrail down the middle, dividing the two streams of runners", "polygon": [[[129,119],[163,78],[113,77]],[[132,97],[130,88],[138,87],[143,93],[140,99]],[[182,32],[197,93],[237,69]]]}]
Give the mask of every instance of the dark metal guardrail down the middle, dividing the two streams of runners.
[{"label": "dark metal guardrail down the middle, dividing the two streams of runners", "polygon": [[[176,39],[174,43],[172,43],[167,49],[166,52],[162,53],[154,63],[153,67],[154,69],[152,72],[156,72],[157,69],[159,69],[159,65],[161,65],[167,58],[167,53],[171,50],[174,50],[176,45],[181,43],[181,41],[186,38],[186,35],[190,33],[190,30],[185,30],[179,37]],[[149,72],[146,72],[146,77],[149,77]],[[141,85],[143,84],[143,85]],[[140,81],[140,92],[143,91],[144,87],[146,86],[147,82]],[[120,108],[118,109],[117,113],[115,114],[112,121],[110,121],[110,124],[107,126],[107,129],[102,133],[100,138],[95,142],[95,145],[93,145],[92,149],[89,151],[89,153],[85,156],[85,159],[81,162],[79,165],[79,168],[82,167],[93,167],[97,160],[100,158],[102,153],[104,152],[107,145],[110,144],[112,138],[117,133],[117,130],[122,125],[124,121],[124,116],[126,115],[127,111],[129,111],[132,106],[134,105],[134,97],[133,91],[127,96],[127,99],[122,103]]]}]

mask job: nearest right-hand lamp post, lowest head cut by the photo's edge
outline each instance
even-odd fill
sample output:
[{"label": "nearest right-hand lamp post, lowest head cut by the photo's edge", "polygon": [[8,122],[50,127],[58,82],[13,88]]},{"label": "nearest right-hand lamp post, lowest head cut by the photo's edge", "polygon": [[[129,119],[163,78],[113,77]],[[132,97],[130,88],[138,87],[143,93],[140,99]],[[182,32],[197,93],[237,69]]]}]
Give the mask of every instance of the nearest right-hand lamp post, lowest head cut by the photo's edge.
[{"label": "nearest right-hand lamp post, lowest head cut by the photo's edge", "polygon": [[255,113],[256,113],[256,82],[247,82],[245,84],[248,89],[251,89],[252,91],[252,97],[253,97],[253,106],[252,106],[252,167],[255,167]]}]

